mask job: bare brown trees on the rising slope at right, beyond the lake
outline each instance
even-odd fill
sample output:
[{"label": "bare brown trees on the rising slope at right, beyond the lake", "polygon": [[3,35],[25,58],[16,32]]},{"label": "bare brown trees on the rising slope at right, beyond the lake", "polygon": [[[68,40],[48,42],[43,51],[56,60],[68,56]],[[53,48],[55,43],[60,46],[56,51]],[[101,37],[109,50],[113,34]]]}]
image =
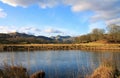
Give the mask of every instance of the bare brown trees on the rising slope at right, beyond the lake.
[{"label": "bare brown trees on the rising slope at right, beyond the lake", "polygon": [[75,43],[88,43],[105,40],[108,43],[120,43],[120,26],[112,24],[105,29],[95,28],[92,32],[75,38]]}]

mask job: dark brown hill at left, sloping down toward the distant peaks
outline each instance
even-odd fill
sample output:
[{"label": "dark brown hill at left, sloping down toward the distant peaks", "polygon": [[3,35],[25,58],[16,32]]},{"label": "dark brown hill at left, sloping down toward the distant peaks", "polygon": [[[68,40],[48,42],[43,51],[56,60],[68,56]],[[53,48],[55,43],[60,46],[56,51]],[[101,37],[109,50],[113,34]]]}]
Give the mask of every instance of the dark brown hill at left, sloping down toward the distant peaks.
[{"label": "dark brown hill at left, sloping down toward the distant peaks", "polygon": [[53,39],[45,36],[34,36],[25,33],[0,33],[0,43],[1,44],[27,44],[27,43],[52,43]]}]

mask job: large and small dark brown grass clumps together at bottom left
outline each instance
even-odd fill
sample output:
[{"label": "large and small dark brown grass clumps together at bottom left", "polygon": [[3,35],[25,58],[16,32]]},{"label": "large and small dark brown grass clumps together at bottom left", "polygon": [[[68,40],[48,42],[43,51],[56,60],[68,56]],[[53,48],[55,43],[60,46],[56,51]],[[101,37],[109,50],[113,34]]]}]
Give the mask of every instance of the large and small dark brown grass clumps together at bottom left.
[{"label": "large and small dark brown grass clumps together at bottom left", "polygon": [[38,71],[33,73],[31,76],[23,66],[10,66],[4,64],[0,69],[0,78],[44,78],[45,72]]}]

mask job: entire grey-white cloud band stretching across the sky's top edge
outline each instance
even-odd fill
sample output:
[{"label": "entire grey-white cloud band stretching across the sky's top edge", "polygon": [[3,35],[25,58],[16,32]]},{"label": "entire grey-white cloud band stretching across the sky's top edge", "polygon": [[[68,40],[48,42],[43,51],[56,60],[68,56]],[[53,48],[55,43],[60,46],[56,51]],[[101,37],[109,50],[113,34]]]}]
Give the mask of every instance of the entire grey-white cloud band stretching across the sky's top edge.
[{"label": "entire grey-white cloud band stretching across the sky's top edge", "polygon": [[[41,8],[53,7],[59,4],[70,6],[73,12],[90,10],[95,13],[92,22],[105,20],[106,23],[119,23],[120,0],[0,0],[3,3],[17,7],[27,7],[38,4]],[[111,22],[112,21],[112,22]]]}]

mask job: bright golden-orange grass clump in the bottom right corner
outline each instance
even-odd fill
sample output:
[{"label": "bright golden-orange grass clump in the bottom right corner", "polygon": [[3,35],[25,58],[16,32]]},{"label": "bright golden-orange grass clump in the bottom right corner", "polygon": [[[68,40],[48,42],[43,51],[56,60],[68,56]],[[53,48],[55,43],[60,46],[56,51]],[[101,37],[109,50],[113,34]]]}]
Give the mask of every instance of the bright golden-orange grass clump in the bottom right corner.
[{"label": "bright golden-orange grass clump in the bottom right corner", "polygon": [[120,71],[115,64],[109,60],[104,60],[103,63],[94,70],[93,74],[89,78],[119,78]]}]

